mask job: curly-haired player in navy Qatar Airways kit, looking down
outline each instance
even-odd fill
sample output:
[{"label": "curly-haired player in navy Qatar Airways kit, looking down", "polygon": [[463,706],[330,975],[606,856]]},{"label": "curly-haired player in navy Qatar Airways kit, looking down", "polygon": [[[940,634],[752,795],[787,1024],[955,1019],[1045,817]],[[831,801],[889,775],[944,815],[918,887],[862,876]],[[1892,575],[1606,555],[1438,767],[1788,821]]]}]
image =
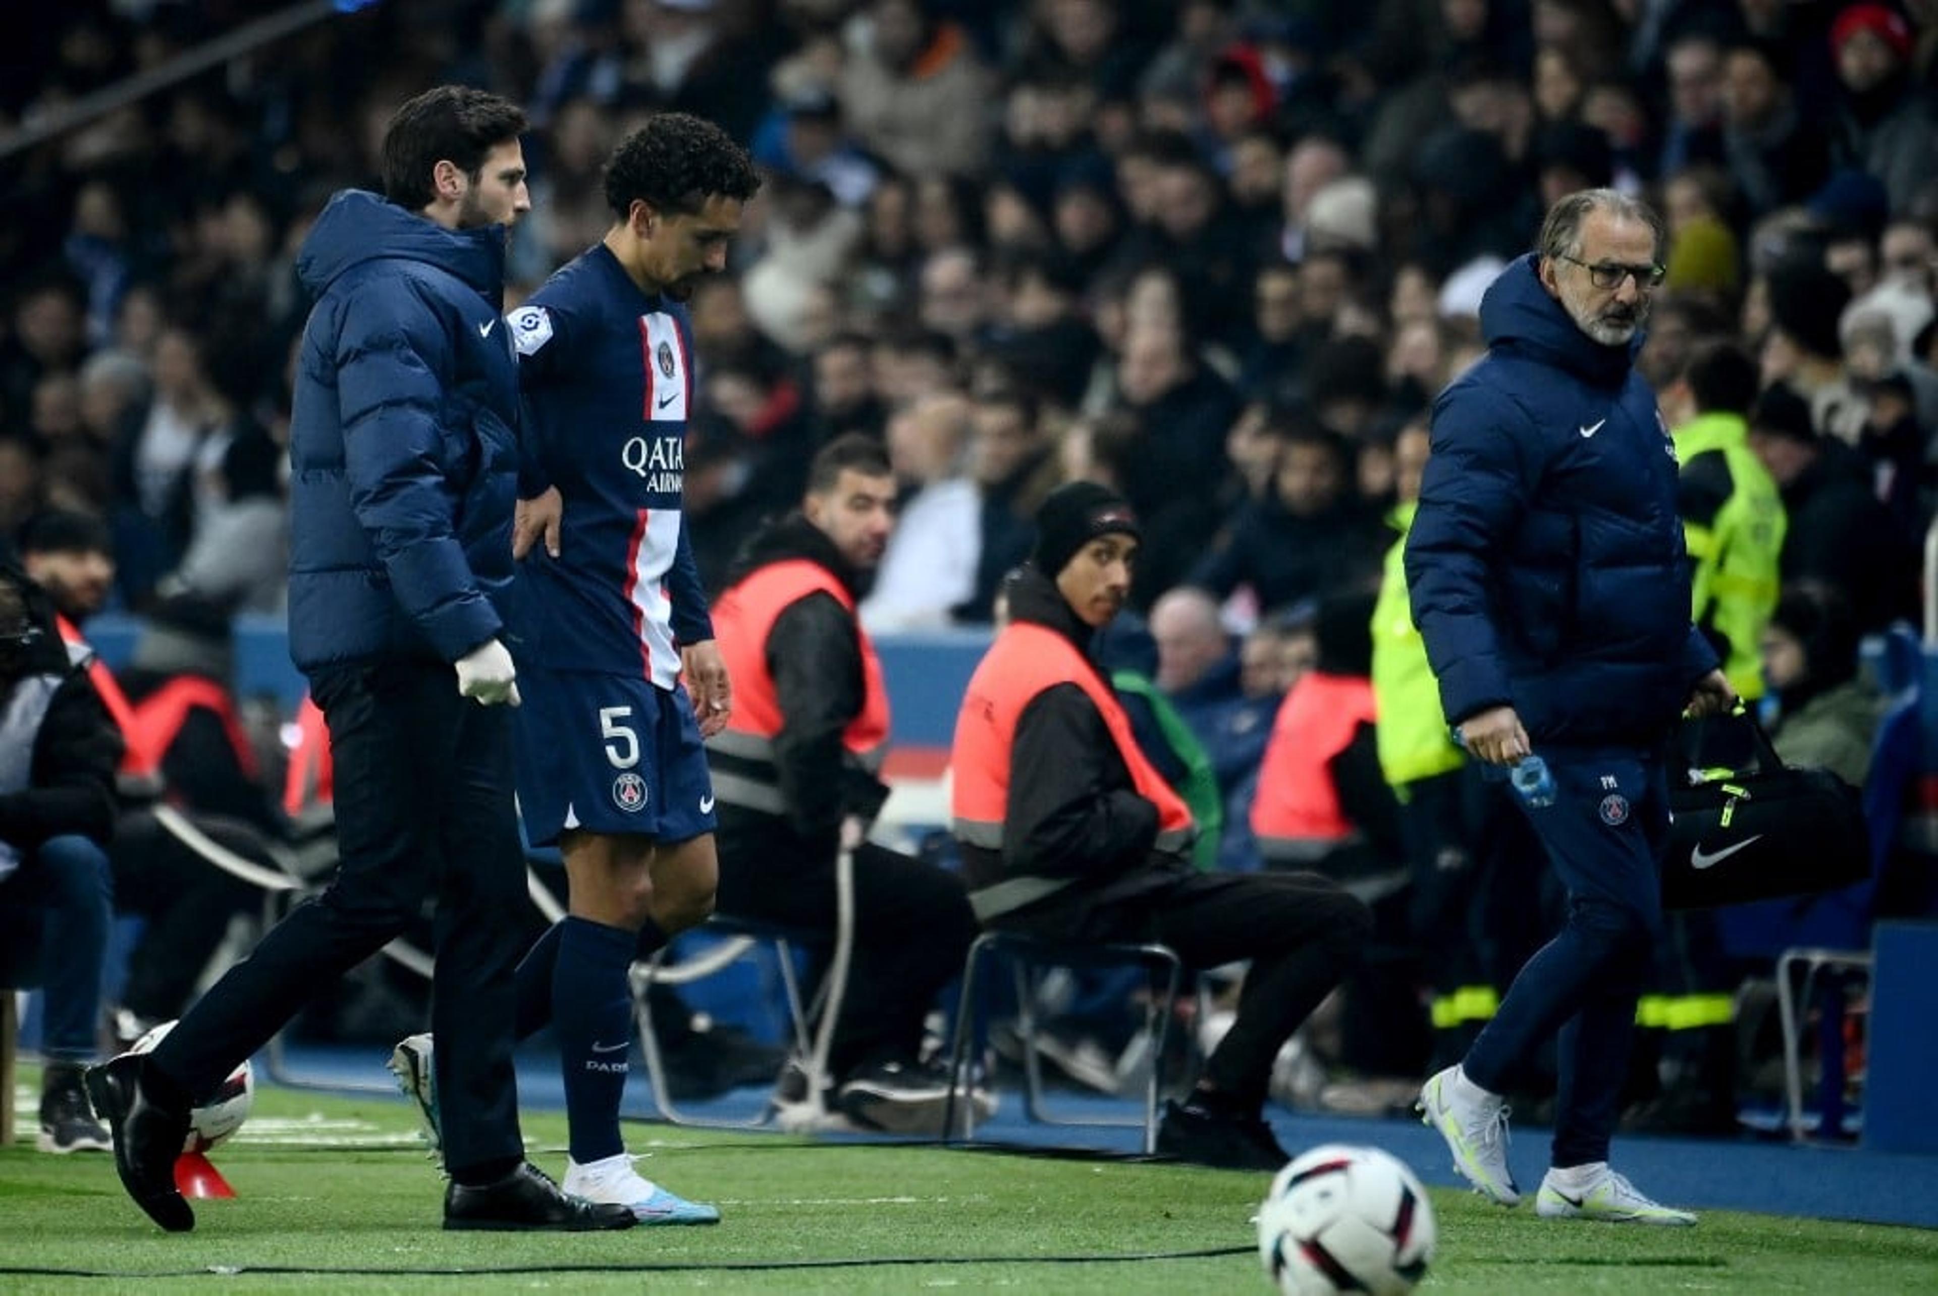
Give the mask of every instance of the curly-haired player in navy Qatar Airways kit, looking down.
[{"label": "curly-haired player in navy Qatar Airways kit, looking down", "polygon": [[[634,1170],[618,1108],[628,969],[713,912],[702,742],[727,723],[731,695],[680,511],[694,399],[684,302],[700,275],[725,269],[758,188],[723,130],[653,116],[607,163],[605,238],[506,316],[529,447],[550,482],[519,533],[548,542],[527,554],[512,616],[517,790],[531,843],[558,845],[570,885],[568,916],[519,967],[517,1027],[550,1019],[558,1034],[566,1191],[645,1224],[719,1220]],[[436,1137],[426,1056],[428,1038],[413,1036],[391,1067]]]}]

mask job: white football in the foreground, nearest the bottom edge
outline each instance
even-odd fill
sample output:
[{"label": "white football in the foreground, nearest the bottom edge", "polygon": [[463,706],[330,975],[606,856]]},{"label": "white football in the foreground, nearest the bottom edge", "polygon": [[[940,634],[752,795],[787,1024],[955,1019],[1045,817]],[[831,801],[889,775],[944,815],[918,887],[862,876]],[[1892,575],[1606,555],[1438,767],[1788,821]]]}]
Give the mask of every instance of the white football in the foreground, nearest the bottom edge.
[{"label": "white football in the foreground, nearest the bottom edge", "polygon": [[1376,1147],[1314,1147],[1279,1170],[1258,1209],[1258,1257],[1285,1296],[1411,1292],[1436,1234],[1426,1189]]}]

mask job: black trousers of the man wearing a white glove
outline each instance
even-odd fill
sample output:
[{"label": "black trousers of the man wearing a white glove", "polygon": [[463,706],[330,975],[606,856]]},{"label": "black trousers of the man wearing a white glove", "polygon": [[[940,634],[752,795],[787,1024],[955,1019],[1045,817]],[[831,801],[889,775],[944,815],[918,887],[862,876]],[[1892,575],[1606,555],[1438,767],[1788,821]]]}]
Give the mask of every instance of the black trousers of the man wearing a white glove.
[{"label": "black trousers of the man wearing a white glove", "polygon": [[213,1091],[430,899],[444,1164],[461,1180],[521,1158],[512,1019],[529,914],[510,715],[459,697],[436,663],[318,670],[310,688],[335,756],[337,876],[202,996],[153,1062],[190,1095]]}]

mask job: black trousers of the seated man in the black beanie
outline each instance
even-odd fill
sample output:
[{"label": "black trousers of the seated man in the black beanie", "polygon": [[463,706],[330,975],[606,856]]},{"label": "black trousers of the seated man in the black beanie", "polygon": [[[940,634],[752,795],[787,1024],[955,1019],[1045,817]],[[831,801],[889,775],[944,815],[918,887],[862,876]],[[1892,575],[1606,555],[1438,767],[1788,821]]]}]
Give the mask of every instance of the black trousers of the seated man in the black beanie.
[{"label": "black trousers of the seated man in the black beanie", "polygon": [[1279,1048],[1353,971],[1372,914],[1318,874],[1176,874],[1118,901],[1052,897],[992,926],[1060,941],[1163,941],[1200,971],[1250,959],[1236,1021],[1203,1077],[1264,1102]]}]

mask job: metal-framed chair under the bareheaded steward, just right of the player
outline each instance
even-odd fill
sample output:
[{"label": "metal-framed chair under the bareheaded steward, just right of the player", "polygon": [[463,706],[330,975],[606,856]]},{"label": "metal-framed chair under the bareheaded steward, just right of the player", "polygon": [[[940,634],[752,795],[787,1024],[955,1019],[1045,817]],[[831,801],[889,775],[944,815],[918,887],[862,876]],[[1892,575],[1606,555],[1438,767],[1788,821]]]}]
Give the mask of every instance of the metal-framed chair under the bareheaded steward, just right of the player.
[{"label": "metal-framed chair under the bareheaded steward, just right of the player", "polygon": [[[669,945],[645,963],[634,965],[632,1002],[640,1023],[640,1048],[645,1054],[647,1079],[653,1083],[653,1102],[667,1120],[676,1126],[754,1129],[781,1118],[785,1127],[802,1131],[816,1129],[828,1120],[828,1052],[833,1046],[833,1031],[839,1021],[841,1000],[847,992],[849,961],[855,951],[855,860],[847,850],[835,860],[835,932],[831,936],[826,928],[797,928],[717,912],[700,928],[705,934],[729,938],[717,949],[694,961],[667,963]],[[667,1083],[667,1062],[659,1048],[659,1034],[653,1031],[653,1000],[647,994],[647,986],[653,982],[686,986],[713,976],[760,943],[773,947],[781,969],[781,986],[787,994],[789,1048],[802,1071],[806,1071],[806,1100],[791,1114],[783,1114],[781,1104],[767,1102],[760,1112],[746,1118],[705,1116],[680,1108],[674,1104],[671,1085]],[[802,947],[822,947],[828,951],[828,969],[812,1000],[800,988],[797,951]],[[816,1013],[820,1013],[818,1027],[814,1021]]]}]

